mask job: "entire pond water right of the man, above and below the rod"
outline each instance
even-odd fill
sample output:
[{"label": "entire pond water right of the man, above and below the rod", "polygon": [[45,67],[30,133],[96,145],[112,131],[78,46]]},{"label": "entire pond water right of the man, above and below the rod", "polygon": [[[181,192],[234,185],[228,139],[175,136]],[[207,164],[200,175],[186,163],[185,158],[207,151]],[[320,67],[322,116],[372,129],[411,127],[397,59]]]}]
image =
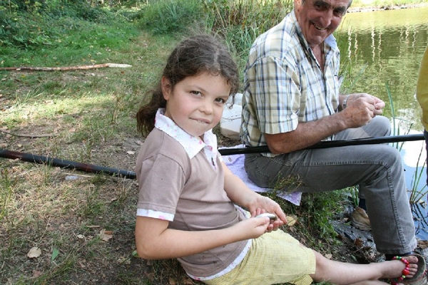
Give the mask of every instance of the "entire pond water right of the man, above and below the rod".
[{"label": "entire pond water right of the man, above and below the rod", "polygon": [[[391,118],[396,134],[422,133],[414,93],[428,46],[428,6],[348,13],[335,36],[342,66],[351,66],[345,68],[347,78],[352,78],[345,91],[371,93],[384,100],[384,115]],[[407,188],[426,193],[424,142],[404,142],[401,147]],[[426,205],[427,194],[419,200]],[[412,208],[417,237],[426,240],[428,214],[424,204],[413,204]]]}]

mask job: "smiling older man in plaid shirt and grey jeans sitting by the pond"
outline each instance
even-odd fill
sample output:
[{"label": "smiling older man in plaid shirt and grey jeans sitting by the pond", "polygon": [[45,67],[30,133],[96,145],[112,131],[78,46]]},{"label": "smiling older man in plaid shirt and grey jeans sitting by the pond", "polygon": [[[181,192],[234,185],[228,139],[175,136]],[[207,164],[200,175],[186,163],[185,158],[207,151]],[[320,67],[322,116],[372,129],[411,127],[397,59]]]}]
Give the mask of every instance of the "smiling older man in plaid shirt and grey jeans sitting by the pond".
[{"label": "smiling older man in plaid shirt and grey jeans sitting by the pond", "polygon": [[[292,181],[290,190],[322,192],[359,185],[377,250],[391,259],[417,246],[399,152],[389,145],[307,149],[321,140],[389,135],[384,102],[367,93],[342,95],[340,51],[332,33],[352,0],[295,0],[280,24],[259,36],[245,68],[241,139],[270,153],[245,157],[260,187]],[[365,221],[364,219],[367,219]]]}]

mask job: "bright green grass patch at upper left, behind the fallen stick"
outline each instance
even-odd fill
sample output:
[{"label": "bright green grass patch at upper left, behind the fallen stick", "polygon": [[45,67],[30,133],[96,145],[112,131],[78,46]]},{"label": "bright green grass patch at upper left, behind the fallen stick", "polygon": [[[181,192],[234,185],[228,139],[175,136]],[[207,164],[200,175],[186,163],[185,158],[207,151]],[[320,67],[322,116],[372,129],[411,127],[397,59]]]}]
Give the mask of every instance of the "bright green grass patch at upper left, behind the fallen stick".
[{"label": "bright green grass patch at upper left, behind the fallen stick", "polygon": [[138,35],[132,24],[115,23],[94,23],[70,17],[37,22],[29,18],[16,24],[19,28],[9,36],[0,36],[0,66],[106,63],[111,53]]}]

